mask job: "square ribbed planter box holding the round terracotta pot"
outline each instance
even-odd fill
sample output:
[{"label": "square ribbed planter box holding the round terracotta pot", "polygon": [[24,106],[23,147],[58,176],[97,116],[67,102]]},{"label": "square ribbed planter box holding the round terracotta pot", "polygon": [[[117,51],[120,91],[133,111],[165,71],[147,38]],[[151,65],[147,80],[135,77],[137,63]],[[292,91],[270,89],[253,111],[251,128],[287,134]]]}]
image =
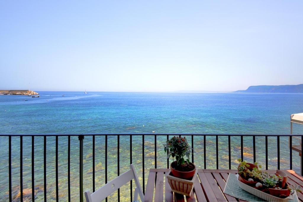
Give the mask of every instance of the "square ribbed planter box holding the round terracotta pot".
[{"label": "square ribbed planter box holding the round terracotta pot", "polygon": [[196,169],[194,177],[191,180],[185,180],[171,175],[169,171],[167,175],[168,184],[171,187],[171,191],[178,194],[183,194],[185,196],[191,196],[192,190],[194,188],[194,182],[197,177],[198,169]]}]

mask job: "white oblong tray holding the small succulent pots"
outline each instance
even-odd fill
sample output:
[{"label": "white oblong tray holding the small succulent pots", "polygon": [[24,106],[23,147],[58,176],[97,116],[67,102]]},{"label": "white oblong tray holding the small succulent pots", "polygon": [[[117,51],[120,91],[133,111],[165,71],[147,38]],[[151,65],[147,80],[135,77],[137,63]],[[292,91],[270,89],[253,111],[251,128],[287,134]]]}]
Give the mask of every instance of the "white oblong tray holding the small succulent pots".
[{"label": "white oblong tray holding the small succulent pots", "polygon": [[[236,176],[237,176],[237,178],[239,177],[238,174]],[[258,190],[256,188],[253,188],[253,187],[251,187],[251,186],[249,186],[249,185],[241,182],[240,180],[238,180],[238,184],[241,187],[241,189],[243,189],[243,190],[245,190],[245,191],[247,191],[247,192],[249,192],[249,193],[251,193],[251,194],[253,194],[253,195],[255,195],[255,196],[259,197],[259,198],[261,198],[261,199],[267,200],[267,201],[288,202],[288,200],[292,200],[295,197],[298,199],[296,191],[295,191],[294,194],[289,195],[289,197],[279,198],[279,197],[275,197],[275,196],[272,196],[270,194],[267,194],[267,193],[265,193],[263,191],[260,191],[260,190]]]}]

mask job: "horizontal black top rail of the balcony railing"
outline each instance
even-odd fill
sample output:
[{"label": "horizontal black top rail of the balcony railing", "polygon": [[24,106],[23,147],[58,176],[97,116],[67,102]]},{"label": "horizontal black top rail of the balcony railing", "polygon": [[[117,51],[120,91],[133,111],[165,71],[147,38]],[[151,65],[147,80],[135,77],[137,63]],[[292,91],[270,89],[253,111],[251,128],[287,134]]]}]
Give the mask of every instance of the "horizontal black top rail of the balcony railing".
[{"label": "horizontal black top rail of the balcony railing", "polygon": [[0,136],[92,136],[92,135],[206,135],[206,136],[303,136],[303,134],[211,134],[211,133],[98,133],[98,134],[0,134]]}]

